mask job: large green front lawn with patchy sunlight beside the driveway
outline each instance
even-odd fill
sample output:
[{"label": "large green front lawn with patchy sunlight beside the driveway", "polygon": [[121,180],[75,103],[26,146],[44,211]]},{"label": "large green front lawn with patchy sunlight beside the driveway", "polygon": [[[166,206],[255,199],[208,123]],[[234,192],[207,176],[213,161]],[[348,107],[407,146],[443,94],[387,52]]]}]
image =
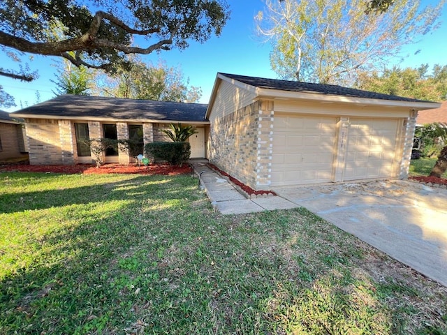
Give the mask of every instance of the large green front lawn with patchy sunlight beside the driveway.
[{"label": "large green front lawn with patchy sunlight beside the driveway", "polygon": [[447,334],[447,289],[197,179],[0,173],[0,334]]}]

